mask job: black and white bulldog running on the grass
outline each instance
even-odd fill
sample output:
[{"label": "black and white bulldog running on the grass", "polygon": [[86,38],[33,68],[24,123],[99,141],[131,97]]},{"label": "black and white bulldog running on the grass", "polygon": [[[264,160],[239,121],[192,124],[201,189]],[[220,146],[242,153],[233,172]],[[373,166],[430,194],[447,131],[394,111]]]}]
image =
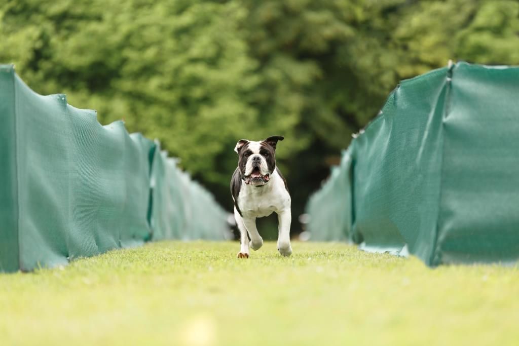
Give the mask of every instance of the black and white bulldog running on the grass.
[{"label": "black and white bulldog running on the grass", "polygon": [[249,258],[249,247],[252,250],[262,247],[263,239],[256,228],[256,218],[272,212],[278,214],[278,251],[283,256],[292,254],[290,194],[276,167],[276,145],[282,140],[282,136],[271,136],[260,142],[240,140],[234,148],[238,153],[238,168],[231,179],[230,190],[234,199],[234,217],[240,230],[238,258]]}]

